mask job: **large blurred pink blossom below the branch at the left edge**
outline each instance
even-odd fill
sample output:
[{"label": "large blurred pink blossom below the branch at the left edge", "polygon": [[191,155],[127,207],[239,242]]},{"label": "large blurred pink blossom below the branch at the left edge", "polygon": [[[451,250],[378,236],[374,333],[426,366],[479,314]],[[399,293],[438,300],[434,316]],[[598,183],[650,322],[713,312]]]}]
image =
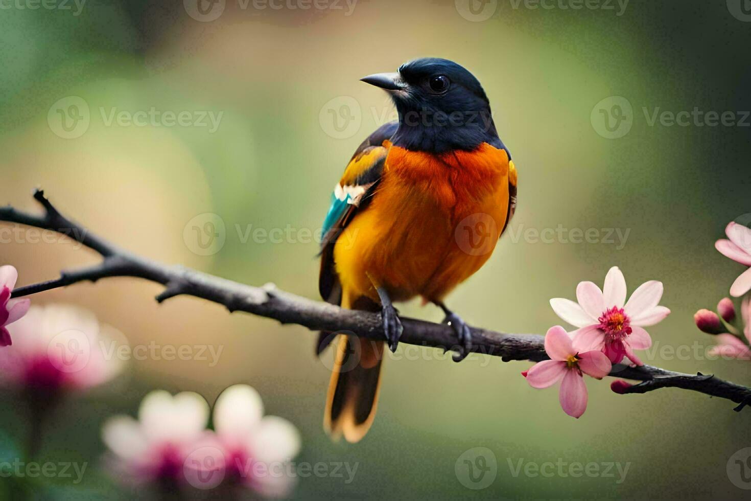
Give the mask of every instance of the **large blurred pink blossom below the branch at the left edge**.
[{"label": "large blurred pink blossom below the branch at the left edge", "polygon": [[116,376],[122,334],[77,306],[32,306],[10,329],[16,343],[0,350],[0,384],[46,391],[81,390]]}]

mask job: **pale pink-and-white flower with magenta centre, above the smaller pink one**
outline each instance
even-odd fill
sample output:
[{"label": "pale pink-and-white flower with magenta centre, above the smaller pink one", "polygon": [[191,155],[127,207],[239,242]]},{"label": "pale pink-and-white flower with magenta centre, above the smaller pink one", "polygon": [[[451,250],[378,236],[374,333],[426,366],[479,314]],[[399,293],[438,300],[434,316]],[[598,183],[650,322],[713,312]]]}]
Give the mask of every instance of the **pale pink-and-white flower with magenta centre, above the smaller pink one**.
[{"label": "pale pink-and-white flower with magenta centre, above the smaller pink one", "polygon": [[[635,349],[652,346],[652,338],[643,327],[662,321],[670,314],[658,306],[662,282],[640,285],[626,303],[626,279],[618,267],[612,267],[601,291],[593,282],[581,282],[576,288],[578,303],[556,297],[550,306],[563,320],[579,327],[572,333],[578,352],[600,350],[613,364],[626,356],[636,365],[644,365]],[[625,306],[624,306],[625,303]]]}]

